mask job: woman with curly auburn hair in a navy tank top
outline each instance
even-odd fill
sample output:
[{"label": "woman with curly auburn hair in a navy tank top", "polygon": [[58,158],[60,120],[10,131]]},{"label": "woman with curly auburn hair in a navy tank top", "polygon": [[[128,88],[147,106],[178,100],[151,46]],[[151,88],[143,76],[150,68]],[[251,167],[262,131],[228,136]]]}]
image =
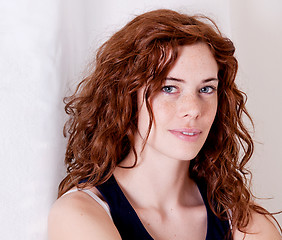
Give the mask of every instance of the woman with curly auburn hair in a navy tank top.
[{"label": "woman with curly auburn hair in a navy tank top", "polygon": [[235,48],[207,20],[148,12],[99,49],[67,99],[50,240],[280,239],[247,185]]}]

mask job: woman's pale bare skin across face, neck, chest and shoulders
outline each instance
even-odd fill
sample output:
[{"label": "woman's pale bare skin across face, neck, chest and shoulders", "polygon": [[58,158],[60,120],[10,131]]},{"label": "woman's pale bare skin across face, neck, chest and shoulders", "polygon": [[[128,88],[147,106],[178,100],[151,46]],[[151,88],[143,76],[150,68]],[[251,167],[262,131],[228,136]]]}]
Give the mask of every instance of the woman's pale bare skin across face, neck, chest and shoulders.
[{"label": "woman's pale bare skin across face, neck, chest and shoulders", "polygon": [[[217,111],[217,72],[216,61],[206,44],[180,48],[162,91],[152,101],[155,122],[144,151],[141,149],[149,118],[142,90],[138,94],[138,164],[130,170],[116,168],[114,176],[156,240],[205,239],[205,205],[187,172]],[[122,165],[129,166],[133,161],[131,152]],[[91,190],[99,195],[96,188]],[[274,224],[257,213],[253,213],[246,231],[255,234],[244,235],[234,229],[234,239],[281,239]],[[121,239],[106,211],[83,192],[70,193],[55,202],[48,232],[49,240]]]}]

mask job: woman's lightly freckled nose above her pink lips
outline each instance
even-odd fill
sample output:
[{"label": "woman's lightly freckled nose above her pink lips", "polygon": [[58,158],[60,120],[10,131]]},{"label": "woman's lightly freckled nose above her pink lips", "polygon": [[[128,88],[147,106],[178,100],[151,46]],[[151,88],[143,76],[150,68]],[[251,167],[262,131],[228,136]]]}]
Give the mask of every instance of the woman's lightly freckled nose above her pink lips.
[{"label": "woman's lightly freckled nose above her pink lips", "polygon": [[182,96],[178,102],[178,115],[181,118],[197,119],[201,116],[202,105],[196,94]]}]

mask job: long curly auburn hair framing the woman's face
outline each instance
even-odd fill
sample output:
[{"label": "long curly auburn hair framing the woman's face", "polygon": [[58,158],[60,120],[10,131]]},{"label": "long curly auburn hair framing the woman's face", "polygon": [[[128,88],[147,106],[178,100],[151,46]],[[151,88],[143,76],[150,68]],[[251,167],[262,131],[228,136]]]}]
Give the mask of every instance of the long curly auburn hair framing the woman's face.
[{"label": "long curly auburn hair framing the woman's face", "polygon": [[253,203],[248,187],[250,172],[245,165],[253,141],[242,118],[247,116],[251,123],[252,119],[245,108],[246,96],[234,82],[238,63],[232,41],[207,17],[165,9],[137,16],[106,41],[97,52],[93,71],[65,98],[70,116],[64,128],[69,136],[67,176],[59,196],[74,186],[105,182],[131,149],[136,158],[137,91],[146,89],[150,131],[150,100],[177,59],[178,47],[197,42],[210,47],[219,67],[218,110],[203,148],[191,161],[189,175],[205,180],[215,214],[226,218],[231,212],[232,224],[239,230],[249,223],[251,210],[269,214]]}]

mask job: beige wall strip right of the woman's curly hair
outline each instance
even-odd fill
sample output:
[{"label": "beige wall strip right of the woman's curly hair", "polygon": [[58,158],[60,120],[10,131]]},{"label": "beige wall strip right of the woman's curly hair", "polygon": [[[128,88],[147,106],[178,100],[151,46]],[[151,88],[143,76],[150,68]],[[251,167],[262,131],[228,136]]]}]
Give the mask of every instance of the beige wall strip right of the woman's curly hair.
[{"label": "beige wall strip right of the woman's curly hair", "polygon": [[[255,123],[250,164],[259,203],[282,210],[282,1],[231,0],[231,37],[237,47],[239,85],[247,91]],[[282,224],[282,214],[277,216]]]}]

